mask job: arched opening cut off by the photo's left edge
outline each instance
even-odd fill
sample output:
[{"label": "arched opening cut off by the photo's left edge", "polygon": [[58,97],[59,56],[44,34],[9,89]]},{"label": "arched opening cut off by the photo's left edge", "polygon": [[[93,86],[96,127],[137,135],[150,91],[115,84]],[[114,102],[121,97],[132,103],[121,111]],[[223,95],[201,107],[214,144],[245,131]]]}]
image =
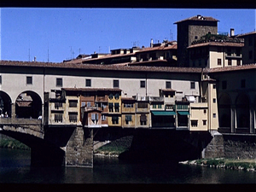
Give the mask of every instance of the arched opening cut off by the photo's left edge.
[{"label": "arched opening cut off by the photo's left edge", "polygon": [[11,116],[12,100],[6,92],[0,90],[0,114],[2,113],[7,113],[9,117]]}]

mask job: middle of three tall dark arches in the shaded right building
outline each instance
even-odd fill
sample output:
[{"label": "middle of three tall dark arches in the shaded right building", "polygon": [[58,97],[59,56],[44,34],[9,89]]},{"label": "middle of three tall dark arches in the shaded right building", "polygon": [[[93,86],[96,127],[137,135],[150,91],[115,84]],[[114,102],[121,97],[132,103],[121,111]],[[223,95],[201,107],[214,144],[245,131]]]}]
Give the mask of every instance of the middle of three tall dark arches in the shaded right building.
[{"label": "middle of three tall dark arches in the shaded right building", "polygon": [[241,93],[236,96],[236,119],[237,128],[250,126],[250,100],[249,97]]}]

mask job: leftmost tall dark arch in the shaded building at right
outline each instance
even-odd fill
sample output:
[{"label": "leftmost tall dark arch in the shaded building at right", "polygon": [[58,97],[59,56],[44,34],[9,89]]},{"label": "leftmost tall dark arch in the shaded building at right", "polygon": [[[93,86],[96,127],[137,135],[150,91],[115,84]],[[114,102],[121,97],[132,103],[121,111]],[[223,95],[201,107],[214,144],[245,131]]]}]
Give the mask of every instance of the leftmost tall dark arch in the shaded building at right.
[{"label": "leftmost tall dark arch in the shaded building at right", "polygon": [[219,127],[231,127],[231,98],[227,93],[222,94],[218,100]]}]

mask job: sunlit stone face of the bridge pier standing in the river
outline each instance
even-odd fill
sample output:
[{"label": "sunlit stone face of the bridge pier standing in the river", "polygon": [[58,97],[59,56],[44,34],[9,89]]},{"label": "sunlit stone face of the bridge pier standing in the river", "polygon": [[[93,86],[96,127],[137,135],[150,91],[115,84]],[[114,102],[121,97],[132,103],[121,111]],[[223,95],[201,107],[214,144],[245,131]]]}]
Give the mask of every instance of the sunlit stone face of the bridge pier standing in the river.
[{"label": "sunlit stone face of the bridge pier standing in the river", "polygon": [[93,167],[93,130],[78,126],[66,146],[66,166]]}]

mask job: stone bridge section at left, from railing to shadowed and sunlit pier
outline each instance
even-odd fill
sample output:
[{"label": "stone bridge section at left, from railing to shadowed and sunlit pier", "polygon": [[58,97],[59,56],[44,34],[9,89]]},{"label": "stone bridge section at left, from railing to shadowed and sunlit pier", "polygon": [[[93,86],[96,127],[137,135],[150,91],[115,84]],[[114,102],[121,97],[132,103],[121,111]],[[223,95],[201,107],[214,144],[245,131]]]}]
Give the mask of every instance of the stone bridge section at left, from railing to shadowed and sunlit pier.
[{"label": "stone bridge section at left, from railing to shadowed and sunlit pier", "polygon": [[53,130],[44,129],[41,119],[0,118],[0,133],[31,148],[32,166],[93,165],[93,135],[87,132],[86,139],[81,127]]}]

